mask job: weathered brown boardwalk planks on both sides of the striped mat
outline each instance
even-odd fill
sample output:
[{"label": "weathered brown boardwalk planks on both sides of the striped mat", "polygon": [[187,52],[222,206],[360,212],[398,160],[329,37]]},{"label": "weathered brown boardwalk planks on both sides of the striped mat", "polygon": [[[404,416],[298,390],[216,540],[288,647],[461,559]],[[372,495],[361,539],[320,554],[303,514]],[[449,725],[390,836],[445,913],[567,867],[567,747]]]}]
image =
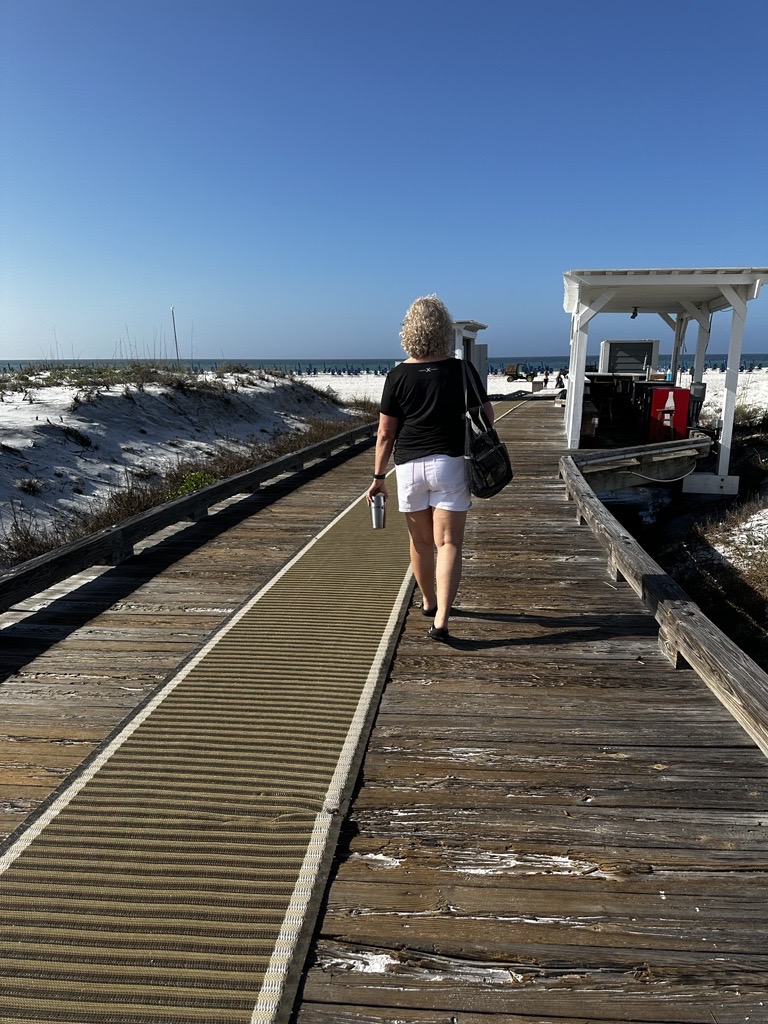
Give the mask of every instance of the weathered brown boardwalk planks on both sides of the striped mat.
[{"label": "weathered brown boardwalk planks on both sides of the striped mat", "polygon": [[[671,667],[578,525],[561,411],[525,403],[501,428],[515,482],[470,515],[458,642],[408,616],[295,1024],[766,1024],[768,762]],[[3,834],[360,494],[371,461],[0,616]]]}]

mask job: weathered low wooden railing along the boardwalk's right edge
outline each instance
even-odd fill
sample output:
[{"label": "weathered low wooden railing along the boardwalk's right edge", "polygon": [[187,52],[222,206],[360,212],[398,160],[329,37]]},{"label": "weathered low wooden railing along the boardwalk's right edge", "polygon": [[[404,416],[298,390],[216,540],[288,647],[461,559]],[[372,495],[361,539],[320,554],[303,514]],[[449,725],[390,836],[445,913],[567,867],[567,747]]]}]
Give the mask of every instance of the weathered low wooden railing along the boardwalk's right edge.
[{"label": "weathered low wooden railing along the boardwalk's right edge", "polygon": [[608,512],[573,458],[560,459],[560,475],[608,555],[610,572],[624,579],[658,623],[658,642],[678,668],[690,667],[768,756],[768,674],[715,626],[685,591]]}]

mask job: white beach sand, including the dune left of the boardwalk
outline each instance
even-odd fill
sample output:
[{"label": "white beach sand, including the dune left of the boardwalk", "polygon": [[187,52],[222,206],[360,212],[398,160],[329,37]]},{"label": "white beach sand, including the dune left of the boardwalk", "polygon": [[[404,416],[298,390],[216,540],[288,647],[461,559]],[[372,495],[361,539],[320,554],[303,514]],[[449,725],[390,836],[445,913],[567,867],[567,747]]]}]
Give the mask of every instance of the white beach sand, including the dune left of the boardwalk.
[{"label": "white beach sand, including the dune left of the boardwalk", "polygon": [[[329,402],[368,399],[378,404],[384,377],[319,374],[285,379],[268,374],[209,378],[216,386],[169,388],[114,386],[94,393],[72,387],[0,392],[0,530],[13,517],[43,521],[59,512],[78,514],[94,497],[125,484],[130,474],[150,477],[216,444],[269,440],[300,428],[311,417],[335,417],[339,430],[355,422]],[[541,378],[539,378],[541,381]],[[682,384],[690,382],[683,377]],[[702,419],[716,421],[725,374],[706,376]],[[531,391],[528,381],[490,375],[488,393]],[[549,393],[555,393],[554,378]],[[739,404],[768,410],[768,370],[742,373]]]}]

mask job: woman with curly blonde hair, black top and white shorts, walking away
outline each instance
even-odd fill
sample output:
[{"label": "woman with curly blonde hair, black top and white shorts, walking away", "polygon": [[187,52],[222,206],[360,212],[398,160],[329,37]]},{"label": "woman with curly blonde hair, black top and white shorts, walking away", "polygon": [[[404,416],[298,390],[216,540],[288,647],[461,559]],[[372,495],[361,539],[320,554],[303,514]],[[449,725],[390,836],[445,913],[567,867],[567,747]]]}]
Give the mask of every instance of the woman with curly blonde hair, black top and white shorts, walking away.
[{"label": "woman with curly blonde hair, black top and white shorts, walking away", "polygon": [[[374,482],[387,497],[385,473],[394,452],[399,511],[411,538],[411,565],[422,594],[422,613],[434,618],[432,640],[446,641],[449,616],[459,590],[467,511],[472,502],[464,464],[462,360],[450,352],[454,322],[432,295],[417,299],[400,333],[408,358],[384,381],[376,441]],[[465,362],[469,408],[494,407],[471,362]]]}]

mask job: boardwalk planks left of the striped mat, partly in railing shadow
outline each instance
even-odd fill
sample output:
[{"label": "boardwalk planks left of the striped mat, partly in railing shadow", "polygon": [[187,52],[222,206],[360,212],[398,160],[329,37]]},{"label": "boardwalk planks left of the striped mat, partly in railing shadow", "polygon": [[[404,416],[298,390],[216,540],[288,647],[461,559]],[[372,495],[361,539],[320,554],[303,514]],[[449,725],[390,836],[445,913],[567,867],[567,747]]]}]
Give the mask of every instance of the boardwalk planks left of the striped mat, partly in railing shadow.
[{"label": "boardwalk planks left of the striped mat, partly in railing shadow", "polygon": [[340,454],[0,614],[0,840],[357,497]]}]

